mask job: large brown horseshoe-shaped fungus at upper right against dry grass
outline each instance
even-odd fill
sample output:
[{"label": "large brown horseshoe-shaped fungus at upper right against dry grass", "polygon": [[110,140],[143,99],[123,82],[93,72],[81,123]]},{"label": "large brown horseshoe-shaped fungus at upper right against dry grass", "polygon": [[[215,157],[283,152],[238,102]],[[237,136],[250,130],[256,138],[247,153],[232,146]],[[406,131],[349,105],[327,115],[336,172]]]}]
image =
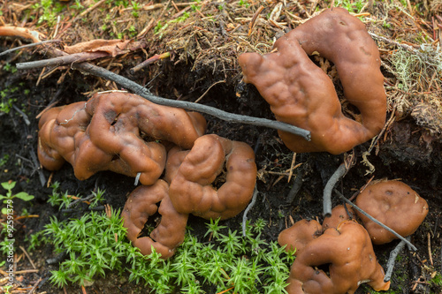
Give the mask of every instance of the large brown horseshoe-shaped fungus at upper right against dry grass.
[{"label": "large brown horseshoe-shaped fungus at upper right against dry grass", "polygon": [[[343,115],[331,79],[308,57],[316,53],[336,65],[345,98],[360,110],[362,124]],[[239,63],[244,81],[255,85],[279,121],[311,132],[311,141],[278,132],[294,152],[337,155],[371,139],[385,124],[377,46],[344,9],[324,11],[279,38],[271,53],[245,53]]]}]

